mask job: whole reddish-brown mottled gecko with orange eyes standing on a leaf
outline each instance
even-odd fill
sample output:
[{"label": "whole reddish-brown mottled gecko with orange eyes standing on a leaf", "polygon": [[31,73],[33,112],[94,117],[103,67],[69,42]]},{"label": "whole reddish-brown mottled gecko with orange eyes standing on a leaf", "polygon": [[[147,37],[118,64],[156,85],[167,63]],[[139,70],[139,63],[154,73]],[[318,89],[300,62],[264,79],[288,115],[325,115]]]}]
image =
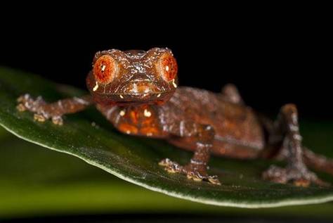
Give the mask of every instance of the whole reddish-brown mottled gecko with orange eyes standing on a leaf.
[{"label": "whole reddish-brown mottled gecko with orange eyes standing on a leaf", "polygon": [[178,67],[169,49],[149,51],[109,50],[96,53],[93,69],[86,78],[91,96],[46,103],[25,94],[18,109],[30,110],[34,118],[51,119],[63,125],[62,115],[76,113],[92,104],[120,132],[162,138],[194,152],[185,166],[169,159],[159,165],[188,179],[220,184],[207,174],[211,153],[231,158],[279,158],[287,167],[271,166],[263,178],[296,186],[324,181],[307,165],[333,174],[333,161],[301,144],[296,106],[283,106],[275,122],[257,115],[244,105],[232,84],[219,94],[177,86]]}]

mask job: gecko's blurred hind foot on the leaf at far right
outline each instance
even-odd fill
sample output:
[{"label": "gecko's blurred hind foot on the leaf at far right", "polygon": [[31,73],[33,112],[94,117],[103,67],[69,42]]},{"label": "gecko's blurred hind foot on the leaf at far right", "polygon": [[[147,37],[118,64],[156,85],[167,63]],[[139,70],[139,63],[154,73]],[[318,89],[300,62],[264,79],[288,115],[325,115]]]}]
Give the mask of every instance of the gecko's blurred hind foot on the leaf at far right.
[{"label": "gecko's blurred hind foot on the leaf at far right", "polygon": [[307,187],[311,183],[318,186],[329,186],[329,183],[319,179],[315,173],[309,171],[306,167],[281,168],[271,165],[268,170],[263,172],[262,176],[263,179],[280,184],[287,184],[287,182],[292,181],[295,186]]}]

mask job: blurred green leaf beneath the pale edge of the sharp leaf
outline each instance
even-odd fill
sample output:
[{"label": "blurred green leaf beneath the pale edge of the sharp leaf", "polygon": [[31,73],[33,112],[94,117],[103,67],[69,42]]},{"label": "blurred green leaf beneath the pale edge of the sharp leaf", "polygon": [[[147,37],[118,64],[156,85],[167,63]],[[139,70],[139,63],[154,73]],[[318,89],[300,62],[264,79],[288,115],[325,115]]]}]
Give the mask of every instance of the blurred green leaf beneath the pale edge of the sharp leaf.
[{"label": "blurred green leaf beneath the pale edge of the sharp leaf", "polygon": [[[1,132],[2,128],[0,128]],[[172,198],[113,177],[64,153],[6,135],[0,140],[0,219],[119,213],[333,218],[333,203],[226,208]]]}]

